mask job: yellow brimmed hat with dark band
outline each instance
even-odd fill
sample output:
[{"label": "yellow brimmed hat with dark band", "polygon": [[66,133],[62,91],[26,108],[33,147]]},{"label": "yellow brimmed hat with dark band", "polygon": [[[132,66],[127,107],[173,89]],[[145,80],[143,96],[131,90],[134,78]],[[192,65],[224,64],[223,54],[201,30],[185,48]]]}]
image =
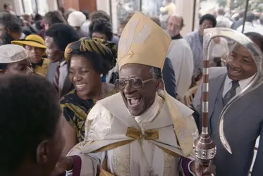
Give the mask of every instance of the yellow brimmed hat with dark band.
[{"label": "yellow brimmed hat with dark band", "polygon": [[44,39],[37,34],[30,34],[25,39],[18,39],[11,42],[12,44],[18,44],[21,46],[33,46],[41,49],[47,49],[44,44]]}]

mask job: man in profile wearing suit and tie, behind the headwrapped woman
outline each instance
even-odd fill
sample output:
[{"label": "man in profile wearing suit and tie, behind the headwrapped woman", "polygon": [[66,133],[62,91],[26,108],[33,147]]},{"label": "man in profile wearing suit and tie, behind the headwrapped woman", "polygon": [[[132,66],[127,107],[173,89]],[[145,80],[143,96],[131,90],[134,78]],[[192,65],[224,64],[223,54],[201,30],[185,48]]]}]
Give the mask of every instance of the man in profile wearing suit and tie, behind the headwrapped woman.
[{"label": "man in profile wearing suit and tie, behind the headwrapped woman", "polygon": [[74,28],[62,23],[52,25],[46,32],[46,53],[47,57],[51,59],[51,65],[47,70],[47,79],[54,84],[59,96],[68,94],[73,88],[68,79],[68,65],[63,53],[68,44],[78,39]]}]

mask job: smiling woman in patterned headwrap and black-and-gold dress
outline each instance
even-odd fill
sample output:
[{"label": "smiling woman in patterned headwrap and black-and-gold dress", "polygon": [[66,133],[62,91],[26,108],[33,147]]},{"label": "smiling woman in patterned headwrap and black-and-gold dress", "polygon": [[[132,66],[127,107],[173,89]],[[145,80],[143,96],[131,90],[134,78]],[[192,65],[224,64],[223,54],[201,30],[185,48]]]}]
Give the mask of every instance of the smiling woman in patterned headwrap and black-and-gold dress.
[{"label": "smiling woman in patterned headwrap and black-and-gold dress", "polygon": [[96,101],[118,92],[114,84],[102,82],[101,77],[116,64],[116,51],[116,44],[96,38],[80,39],[66,47],[69,79],[75,89],[61,99],[66,136],[64,155],[84,139],[85,120]]}]

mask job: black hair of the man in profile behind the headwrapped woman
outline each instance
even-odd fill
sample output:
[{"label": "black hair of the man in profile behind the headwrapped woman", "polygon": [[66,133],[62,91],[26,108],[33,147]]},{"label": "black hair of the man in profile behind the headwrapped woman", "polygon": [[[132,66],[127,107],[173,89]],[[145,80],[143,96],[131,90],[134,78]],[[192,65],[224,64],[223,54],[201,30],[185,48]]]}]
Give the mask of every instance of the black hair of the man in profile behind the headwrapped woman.
[{"label": "black hair of the man in profile behind the headwrapped woman", "polygon": [[79,39],[77,32],[70,25],[58,23],[49,27],[46,37],[52,37],[60,51],[64,51],[71,42]]}]

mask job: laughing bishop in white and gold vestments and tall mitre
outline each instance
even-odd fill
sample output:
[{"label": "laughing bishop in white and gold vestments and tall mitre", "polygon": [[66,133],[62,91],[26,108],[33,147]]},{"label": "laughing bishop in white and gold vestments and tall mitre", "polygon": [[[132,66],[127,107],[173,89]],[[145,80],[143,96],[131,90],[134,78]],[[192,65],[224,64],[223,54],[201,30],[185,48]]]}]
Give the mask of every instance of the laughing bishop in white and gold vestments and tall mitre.
[{"label": "laughing bishop in white and gold vestments and tall mitre", "polygon": [[[161,87],[170,37],[135,13],[118,49],[120,93],[98,101],[85,123],[85,141],[69,153],[67,175],[204,175],[192,155],[198,137],[192,110]],[[157,44],[159,43],[159,44]]]}]

